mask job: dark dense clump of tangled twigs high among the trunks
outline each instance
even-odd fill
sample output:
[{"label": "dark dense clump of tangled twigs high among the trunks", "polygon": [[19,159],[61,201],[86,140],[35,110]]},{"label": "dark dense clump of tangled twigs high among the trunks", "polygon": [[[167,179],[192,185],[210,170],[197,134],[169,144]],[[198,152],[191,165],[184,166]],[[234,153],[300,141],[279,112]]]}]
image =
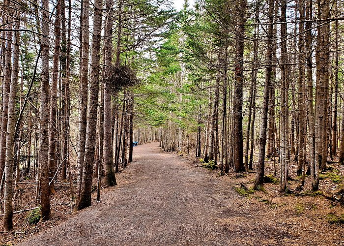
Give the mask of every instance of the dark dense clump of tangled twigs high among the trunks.
[{"label": "dark dense clump of tangled twigs high among the trunks", "polygon": [[139,84],[140,80],[136,77],[135,71],[129,65],[114,65],[111,69],[111,75],[103,82],[106,83],[109,91],[119,92],[125,87],[131,87]]}]

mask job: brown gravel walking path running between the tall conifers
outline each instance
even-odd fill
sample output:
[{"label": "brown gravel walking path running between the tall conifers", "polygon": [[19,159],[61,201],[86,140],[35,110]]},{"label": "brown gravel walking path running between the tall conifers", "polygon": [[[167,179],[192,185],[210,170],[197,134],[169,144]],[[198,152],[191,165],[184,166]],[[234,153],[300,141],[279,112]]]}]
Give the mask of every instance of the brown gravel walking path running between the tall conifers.
[{"label": "brown gravel walking path running between the tall conifers", "polygon": [[102,191],[100,203],[92,199],[92,207],[22,245],[281,243],[275,240],[284,233],[262,221],[263,211],[245,212],[247,199],[213,172],[163,153],[158,143],[134,147],[134,160],[117,176],[116,187]]}]

